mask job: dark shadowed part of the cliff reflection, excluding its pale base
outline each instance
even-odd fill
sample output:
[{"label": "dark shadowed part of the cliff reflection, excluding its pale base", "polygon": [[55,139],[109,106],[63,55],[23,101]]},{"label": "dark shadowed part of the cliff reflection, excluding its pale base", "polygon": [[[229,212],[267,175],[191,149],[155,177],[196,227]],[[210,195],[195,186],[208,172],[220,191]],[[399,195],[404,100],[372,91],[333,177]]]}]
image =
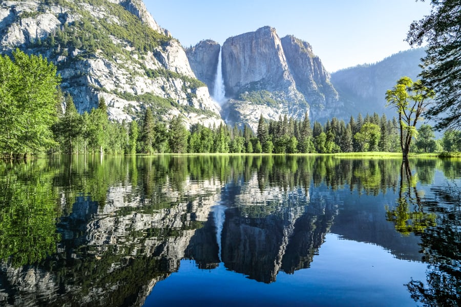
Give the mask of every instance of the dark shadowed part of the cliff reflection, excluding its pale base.
[{"label": "dark shadowed part of the cliff reflection, excluding its pale base", "polygon": [[276,281],[280,271],[292,274],[309,268],[336,211],[279,209],[266,217],[248,216],[239,208],[226,211],[222,256],[226,268],[265,283]]}]

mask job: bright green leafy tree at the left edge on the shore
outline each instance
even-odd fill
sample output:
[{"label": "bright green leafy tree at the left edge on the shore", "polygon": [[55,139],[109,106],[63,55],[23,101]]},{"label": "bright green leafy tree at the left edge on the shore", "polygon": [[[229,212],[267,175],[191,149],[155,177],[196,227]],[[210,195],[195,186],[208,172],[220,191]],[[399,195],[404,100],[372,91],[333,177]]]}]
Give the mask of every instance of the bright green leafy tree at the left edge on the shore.
[{"label": "bright green leafy tree at the left edge on the shore", "polygon": [[27,155],[53,145],[50,126],[60,102],[56,67],[16,50],[0,56],[0,152]]}]

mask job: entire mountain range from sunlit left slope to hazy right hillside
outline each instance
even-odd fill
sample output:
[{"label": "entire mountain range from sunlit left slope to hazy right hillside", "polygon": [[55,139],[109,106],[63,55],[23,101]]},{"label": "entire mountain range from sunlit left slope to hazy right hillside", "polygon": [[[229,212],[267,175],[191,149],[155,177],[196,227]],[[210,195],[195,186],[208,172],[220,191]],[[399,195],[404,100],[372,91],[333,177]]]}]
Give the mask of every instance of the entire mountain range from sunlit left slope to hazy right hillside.
[{"label": "entire mountain range from sunlit left slope to hazy right hillside", "polygon": [[[312,46],[265,26],[184,48],[141,0],[9,1],[0,5],[0,51],[42,54],[58,67],[62,89],[80,113],[104,98],[112,120],[131,121],[152,108],[157,119],[186,125],[249,124],[260,115],[325,122],[386,113],[384,95],[403,75],[416,78],[423,50],[328,73]],[[406,55],[408,53],[408,55]],[[227,102],[213,100],[218,57]],[[416,69],[415,69],[416,68]],[[198,80],[197,80],[198,79]],[[200,80],[200,81],[199,81]]]}]

